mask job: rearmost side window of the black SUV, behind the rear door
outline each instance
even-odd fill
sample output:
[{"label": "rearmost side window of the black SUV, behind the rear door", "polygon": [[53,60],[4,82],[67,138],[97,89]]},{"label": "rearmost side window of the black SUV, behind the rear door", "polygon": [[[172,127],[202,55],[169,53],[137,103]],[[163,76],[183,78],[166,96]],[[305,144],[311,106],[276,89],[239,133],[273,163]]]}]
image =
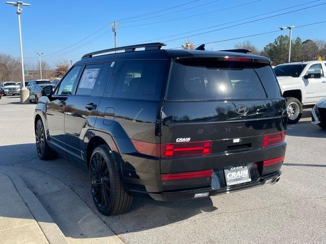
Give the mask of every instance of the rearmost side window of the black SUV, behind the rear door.
[{"label": "rearmost side window of the black SUV, behind the rear door", "polygon": [[114,77],[113,98],[159,100],[166,60],[124,61]]}]

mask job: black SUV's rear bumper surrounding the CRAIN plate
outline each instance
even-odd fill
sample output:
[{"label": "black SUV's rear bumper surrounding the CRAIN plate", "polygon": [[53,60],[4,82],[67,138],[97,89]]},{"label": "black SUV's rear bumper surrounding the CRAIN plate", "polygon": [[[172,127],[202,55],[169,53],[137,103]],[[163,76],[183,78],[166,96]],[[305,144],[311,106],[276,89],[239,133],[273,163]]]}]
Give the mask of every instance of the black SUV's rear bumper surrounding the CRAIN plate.
[{"label": "black SUV's rear bumper surrounding the CRAIN plate", "polygon": [[[126,190],[131,192],[147,193],[156,200],[182,200],[195,198],[197,193],[207,193],[209,196],[239,191],[265,184],[281,174],[282,163],[268,167],[261,167],[262,161],[275,159],[285,155],[286,143],[258,148],[257,150],[242,151],[230,154],[214,154],[206,157],[188,157],[173,161],[159,161],[142,158],[136,155],[122,155],[125,166],[122,168],[123,183]],[[131,163],[133,162],[133,163]],[[155,166],[156,165],[156,166]],[[224,168],[247,165],[250,169],[252,181],[234,187],[226,187],[223,173],[221,176],[221,188],[211,189],[211,177],[161,180],[161,174],[192,172],[212,169],[214,172],[223,172]],[[131,167],[132,166],[132,167]],[[155,167],[154,167],[155,166]],[[160,166],[160,168],[159,168]],[[149,169],[151,172],[144,172]]]}]

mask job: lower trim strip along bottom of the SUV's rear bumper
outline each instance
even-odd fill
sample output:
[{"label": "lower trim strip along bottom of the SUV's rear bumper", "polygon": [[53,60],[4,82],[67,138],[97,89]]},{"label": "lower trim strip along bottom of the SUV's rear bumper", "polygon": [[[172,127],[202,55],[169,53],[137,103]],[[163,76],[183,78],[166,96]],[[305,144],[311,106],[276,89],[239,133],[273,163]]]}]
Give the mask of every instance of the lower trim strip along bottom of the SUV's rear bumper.
[{"label": "lower trim strip along bottom of the SUV's rear bumper", "polygon": [[[192,189],[192,190],[184,190],[184,191],[171,191],[171,192],[163,192],[163,193],[150,193],[149,195],[157,200],[157,201],[177,201],[177,200],[189,200],[199,198],[197,194],[200,193],[208,193],[208,196],[215,196],[221,195],[241,190],[246,190],[258,186],[262,186],[266,183],[274,183],[278,181],[279,177],[281,176],[282,171],[274,172],[273,174],[266,175],[264,177],[259,178],[256,181],[244,183],[241,185],[236,185],[232,187],[225,187],[218,190],[214,190],[212,188],[199,188],[199,189]],[[197,196],[196,196],[197,195]]]}]

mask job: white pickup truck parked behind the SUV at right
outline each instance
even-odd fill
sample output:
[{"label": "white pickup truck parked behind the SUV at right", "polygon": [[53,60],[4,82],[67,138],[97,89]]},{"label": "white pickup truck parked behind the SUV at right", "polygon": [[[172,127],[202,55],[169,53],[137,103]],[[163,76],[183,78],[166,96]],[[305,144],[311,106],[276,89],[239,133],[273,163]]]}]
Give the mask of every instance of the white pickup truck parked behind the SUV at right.
[{"label": "white pickup truck parked behind the SUV at right", "polygon": [[288,124],[297,123],[302,109],[313,107],[326,97],[325,61],[295,62],[278,65],[274,72],[286,99]]}]

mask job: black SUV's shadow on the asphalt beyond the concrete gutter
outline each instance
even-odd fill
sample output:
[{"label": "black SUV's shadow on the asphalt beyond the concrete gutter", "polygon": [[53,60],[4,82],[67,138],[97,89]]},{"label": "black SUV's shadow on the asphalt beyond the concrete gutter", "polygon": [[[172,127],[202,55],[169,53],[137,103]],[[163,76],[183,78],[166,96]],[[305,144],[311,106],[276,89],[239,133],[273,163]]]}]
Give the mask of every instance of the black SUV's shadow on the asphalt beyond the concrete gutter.
[{"label": "black SUV's shadow on the asphalt beyond the concrete gutter", "polygon": [[[162,202],[155,201],[148,195],[133,194],[133,203],[128,212],[107,217],[101,215],[93,204],[89,189],[89,175],[84,167],[61,157],[56,160],[41,161],[37,157],[34,143],[0,146],[0,155],[2,155],[0,165],[36,169],[60,179],[116,234],[170,225],[200,215],[203,212],[213,212],[218,209],[213,206],[210,198]],[[31,190],[33,191],[33,189]],[[63,211],[61,214],[65,215],[65,212]],[[75,225],[78,223],[76,222]],[[79,236],[80,233],[73,231],[64,234],[68,234],[72,238],[83,238],[83,236]],[[103,233],[98,235],[101,237]],[[87,237],[85,236],[85,238]]]}]

